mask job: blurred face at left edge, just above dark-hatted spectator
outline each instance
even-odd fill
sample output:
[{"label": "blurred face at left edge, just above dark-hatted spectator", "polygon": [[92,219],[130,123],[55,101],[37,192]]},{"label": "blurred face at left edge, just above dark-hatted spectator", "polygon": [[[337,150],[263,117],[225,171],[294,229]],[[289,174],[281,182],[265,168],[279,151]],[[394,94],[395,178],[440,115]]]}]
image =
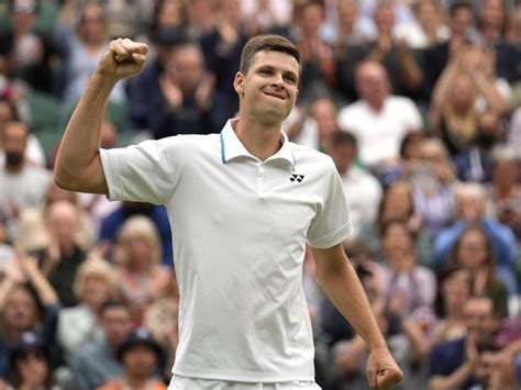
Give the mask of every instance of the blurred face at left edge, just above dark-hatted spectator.
[{"label": "blurred face at left edge, just above dark-hatted spectator", "polygon": [[36,322],[34,298],[22,287],[14,288],[3,308],[3,322],[19,332],[30,331]]}]

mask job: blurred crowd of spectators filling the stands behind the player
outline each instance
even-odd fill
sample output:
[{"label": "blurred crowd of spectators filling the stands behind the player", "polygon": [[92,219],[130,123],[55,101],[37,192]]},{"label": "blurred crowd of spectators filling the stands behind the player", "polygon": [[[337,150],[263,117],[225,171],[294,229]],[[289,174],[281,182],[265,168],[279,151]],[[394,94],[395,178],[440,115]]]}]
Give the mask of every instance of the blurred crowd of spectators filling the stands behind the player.
[{"label": "blurred crowd of spectators filling the stands behind the player", "polygon": [[[57,188],[56,149],[111,38],[149,54],[110,96],[104,148],[220,132],[263,33],[300,51],[282,130],[342,177],[345,250],[400,388],[520,387],[520,1],[4,0],[0,389],[166,389],[179,296],[165,210]],[[364,341],[311,255],[303,269],[317,381],[367,388]]]}]

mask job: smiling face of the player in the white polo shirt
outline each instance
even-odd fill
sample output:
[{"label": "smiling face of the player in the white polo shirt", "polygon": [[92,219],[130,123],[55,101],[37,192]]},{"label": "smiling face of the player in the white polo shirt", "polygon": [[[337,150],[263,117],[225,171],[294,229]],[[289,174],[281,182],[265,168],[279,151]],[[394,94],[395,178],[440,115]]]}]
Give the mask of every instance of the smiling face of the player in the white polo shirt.
[{"label": "smiling face of the player in the white polo shirt", "polygon": [[235,75],[234,88],[241,111],[266,125],[281,123],[290,113],[298,94],[299,64],[280,52],[258,52],[246,75]]}]

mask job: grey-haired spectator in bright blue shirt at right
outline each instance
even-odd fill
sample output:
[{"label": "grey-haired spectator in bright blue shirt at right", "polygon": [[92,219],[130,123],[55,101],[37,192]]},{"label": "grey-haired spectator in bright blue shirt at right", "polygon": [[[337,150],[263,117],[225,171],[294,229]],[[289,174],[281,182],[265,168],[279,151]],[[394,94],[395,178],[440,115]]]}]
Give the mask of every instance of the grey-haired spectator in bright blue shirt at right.
[{"label": "grey-haired spectator in bright blue shirt at right", "polygon": [[479,183],[459,183],[455,188],[456,219],[443,230],[434,242],[434,266],[442,269],[459,235],[470,225],[480,226],[491,242],[492,254],[497,259],[497,272],[507,287],[509,294],[518,291],[512,267],[518,259],[516,236],[510,227],[497,222],[486,213],[487,196]]}]

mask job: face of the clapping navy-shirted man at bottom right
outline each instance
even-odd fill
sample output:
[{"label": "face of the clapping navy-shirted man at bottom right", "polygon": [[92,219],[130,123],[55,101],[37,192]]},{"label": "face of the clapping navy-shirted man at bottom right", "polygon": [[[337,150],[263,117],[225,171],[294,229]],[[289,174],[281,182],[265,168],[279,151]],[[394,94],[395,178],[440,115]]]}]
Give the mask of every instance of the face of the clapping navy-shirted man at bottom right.
[{"label": "face of the clapping navy-shirted man at bottom right", "polygon": [[487,297],[470,298],[465,304],[464,317],[468,333],[476,336],[477,345],[487,345],[498,327],[492,301]]}]

